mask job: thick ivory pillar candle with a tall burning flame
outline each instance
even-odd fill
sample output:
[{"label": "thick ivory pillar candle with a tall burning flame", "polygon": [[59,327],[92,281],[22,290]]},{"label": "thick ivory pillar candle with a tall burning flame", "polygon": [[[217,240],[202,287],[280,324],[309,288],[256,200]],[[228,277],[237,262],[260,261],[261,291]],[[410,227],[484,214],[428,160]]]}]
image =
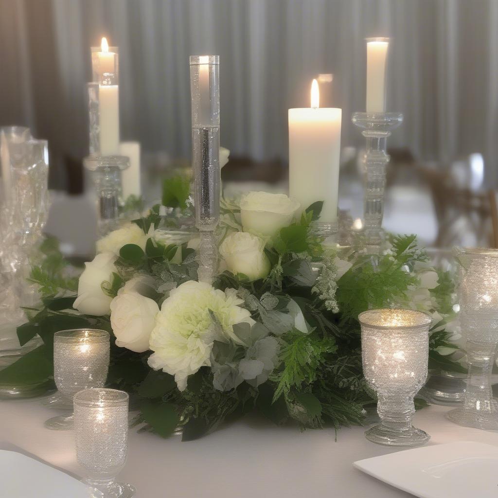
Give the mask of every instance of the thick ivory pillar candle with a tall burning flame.
[{"label": "thick ivory pillar candle with a tall burning flame", "polygon": [[342,109],[319,108],[313,80],[311,108],[289,109],[289,193],[301,211],[324,201],[321,223],[337,220]]}]

